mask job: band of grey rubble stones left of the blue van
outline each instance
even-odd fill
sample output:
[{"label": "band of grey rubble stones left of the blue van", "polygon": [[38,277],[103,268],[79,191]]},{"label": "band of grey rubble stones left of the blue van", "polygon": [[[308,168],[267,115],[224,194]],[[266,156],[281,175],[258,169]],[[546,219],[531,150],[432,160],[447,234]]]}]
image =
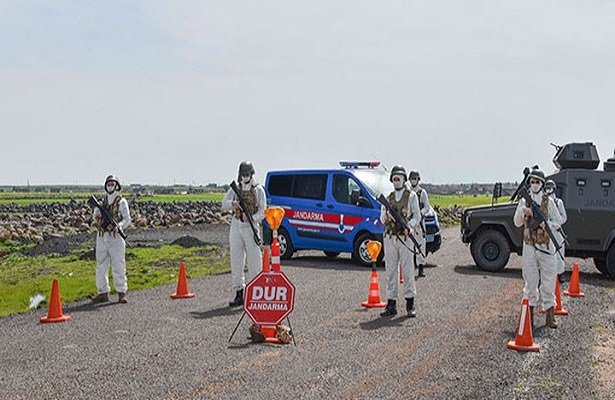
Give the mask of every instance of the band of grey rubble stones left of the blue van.
[{"label": "band of grey rubble stones left of the blue van", "polygon": [[[205,201],[132,201],[130,213],[133,225],[140,228],[230,224],[231,219],[229,212],[222,211],[220,203]],[[92,230],[92,209],[85,201],[0,205],[0,240],[41,243],[49,238]]]}]

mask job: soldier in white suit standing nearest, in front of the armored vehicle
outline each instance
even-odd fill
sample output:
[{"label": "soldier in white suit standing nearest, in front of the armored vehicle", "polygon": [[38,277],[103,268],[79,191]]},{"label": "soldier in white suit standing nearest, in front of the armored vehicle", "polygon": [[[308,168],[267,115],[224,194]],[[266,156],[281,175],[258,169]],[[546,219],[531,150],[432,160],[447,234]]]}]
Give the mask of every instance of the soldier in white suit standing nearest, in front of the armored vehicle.
[{"label": "soldier in white suit standing nearest, in front of the armored vehicle", "polygon": [[[527,178],[530,184],[529,194],[532,200],[540,206],[552,231],[560,227],[559,211],[553,199],[543,192],[545,176],[537,168],[533,169]],[[515,226],[524,227],[522,270],[523,296],[529,300],[532,324],[534,307],[542,299],[542,308],[547,310],[546,325],[557,328],[555,321],[555,279],[557,276],[557,255],[555,245],[544,229],[544,222],[536,227],[534,214],[525,199],[519,199],[519,204],[513,217]],[[540,282],[540,292],[539,292]]]}]

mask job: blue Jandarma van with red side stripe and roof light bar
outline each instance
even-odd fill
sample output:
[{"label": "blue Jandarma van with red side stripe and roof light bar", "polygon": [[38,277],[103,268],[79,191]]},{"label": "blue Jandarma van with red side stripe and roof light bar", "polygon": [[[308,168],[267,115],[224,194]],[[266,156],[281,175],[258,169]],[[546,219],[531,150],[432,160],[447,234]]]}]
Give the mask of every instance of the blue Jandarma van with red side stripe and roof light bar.
[{"label": "blue Jandarma van with red side stripe and roof light bar", "polygon": [[[297,250],[322,250],[331,258],[352,253],[359,264],[371,265],[367,242],[382,241],[384,225],[376,199],[393,190],[389,172],[378,161],[342,161],[340,166],[267,173],[267,205],[285,209],[278,229],[281,258],[289,259]],[[441,243],[433,210],[426,228],[427,252],[433,253]]]}]

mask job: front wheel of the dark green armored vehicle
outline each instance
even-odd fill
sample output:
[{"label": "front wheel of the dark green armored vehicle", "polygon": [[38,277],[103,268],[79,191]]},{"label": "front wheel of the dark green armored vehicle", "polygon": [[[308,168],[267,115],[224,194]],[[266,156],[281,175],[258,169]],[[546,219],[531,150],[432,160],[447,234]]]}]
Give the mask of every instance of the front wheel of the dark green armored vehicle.
[{"label": "front wheel of the dark green armored vehicle", "polygon": [[498,272],[506,267],[510,258],[510,245],[506,237],[494,229],[478,234],[470,245],[476,266],[483,271]]}]

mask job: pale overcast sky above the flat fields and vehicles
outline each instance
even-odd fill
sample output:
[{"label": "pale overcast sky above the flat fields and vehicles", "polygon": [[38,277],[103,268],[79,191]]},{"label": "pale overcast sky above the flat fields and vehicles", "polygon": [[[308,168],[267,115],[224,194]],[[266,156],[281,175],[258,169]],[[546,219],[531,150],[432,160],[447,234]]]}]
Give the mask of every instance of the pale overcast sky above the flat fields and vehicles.
[{"label": "pale overcast sky above the flat fields and vehicles", "polygon": [[0,185],[512,182],[551,142],[615,150],[610,0],[2,0],[0,54]]}]

